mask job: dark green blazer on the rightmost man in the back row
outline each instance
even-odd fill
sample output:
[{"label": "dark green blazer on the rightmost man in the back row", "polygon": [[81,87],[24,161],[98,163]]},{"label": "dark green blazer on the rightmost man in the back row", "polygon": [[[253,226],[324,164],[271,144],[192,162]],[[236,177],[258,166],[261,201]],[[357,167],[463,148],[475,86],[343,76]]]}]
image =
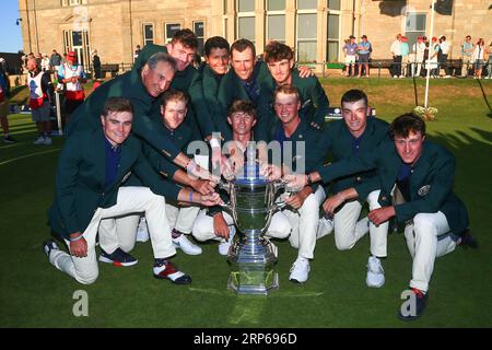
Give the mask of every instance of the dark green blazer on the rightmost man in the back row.
[{"label": "dark green blazer on the rightmost man in the back row", "polygon": [[[328,113],[329,101],[319,83],[318,78],[308,77],[301,78],[298,69],[292,70],[292,85],[297,88],[301,97],[300,116],[306,119],[308,124],[316,124],[320,127],[325,125],[325,116]],[[277,119],[273,109],[273,92],[277,89],[277,83],[269,73],[261,81],[260,100],[258,102],[258,124],[256,129],[256,138],[258,140],[266,140],[267,133],[262,130],[269,130],[272,122]]]}]

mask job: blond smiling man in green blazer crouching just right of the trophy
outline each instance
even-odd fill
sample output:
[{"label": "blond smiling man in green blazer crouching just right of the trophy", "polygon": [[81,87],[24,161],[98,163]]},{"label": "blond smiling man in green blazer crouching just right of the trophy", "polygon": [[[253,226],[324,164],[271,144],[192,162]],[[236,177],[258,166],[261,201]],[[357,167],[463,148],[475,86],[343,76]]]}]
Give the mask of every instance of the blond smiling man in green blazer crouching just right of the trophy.
[{"label": "blond smiling man in green blazer crouching just right of the trophy", "polygon": [[[324,154],[317,151],[316,143],[323,132],[301,118],[298,90],[282,85],[277,88],[273,96],[278,122],[272,128],[271,139],[280,145],[283,172],[300,172],[301,168],[309,172],[317,168],[323,164]],[[296,189],[285,198],[289,208],[282,212],[292,226],[289,242],[297,248],[297,258],[292,265],[289,280],[304,283],[311,271],[309,259],[314,258],[319,206],[325,199],[325,190],[321,186],[311,184]]]}]

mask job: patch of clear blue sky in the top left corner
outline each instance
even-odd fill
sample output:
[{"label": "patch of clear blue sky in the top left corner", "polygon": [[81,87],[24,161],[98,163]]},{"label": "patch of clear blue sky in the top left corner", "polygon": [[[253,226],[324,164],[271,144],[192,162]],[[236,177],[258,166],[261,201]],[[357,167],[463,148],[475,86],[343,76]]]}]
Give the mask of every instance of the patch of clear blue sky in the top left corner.
[{"label": "patch of clear blue sky in the top left corner", "polygon": [[0,2],[0,52],[17,52],[23,48],[21,25],[15,25],[19,14],[19,0]]}]

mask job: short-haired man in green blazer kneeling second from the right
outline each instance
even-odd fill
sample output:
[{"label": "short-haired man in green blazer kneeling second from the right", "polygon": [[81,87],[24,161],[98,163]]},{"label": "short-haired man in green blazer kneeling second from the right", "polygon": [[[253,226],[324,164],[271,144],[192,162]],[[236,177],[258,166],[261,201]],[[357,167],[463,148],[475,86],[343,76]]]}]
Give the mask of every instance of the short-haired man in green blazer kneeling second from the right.
[{"label": "short-haired man in green blazer kneeling second from the right", "polygon": [[[376,149],[388,138],[388,124],[367,117],[367,95],[361,90],[349,90],[341,98],[343,120],[327,125],[323,149],[333,161],[363,155]],[[362,206],[380,208],[377,202],[379,183],[376,172],[362,172],[333,182],[331,196],[325,201],[326,217],[320,219],[318,237],[335,228],[335,243],[340,250],[354,247],[367,231],[371,236],[371,256],[367,261],[367,287],[379,288],[385,283],[380,259],[386,257],[388,223],[374,225],[366,218],[359,220]],[[329,187],[326,188],[328,190]],[[333,218],[331,220],[327,218]]]}]

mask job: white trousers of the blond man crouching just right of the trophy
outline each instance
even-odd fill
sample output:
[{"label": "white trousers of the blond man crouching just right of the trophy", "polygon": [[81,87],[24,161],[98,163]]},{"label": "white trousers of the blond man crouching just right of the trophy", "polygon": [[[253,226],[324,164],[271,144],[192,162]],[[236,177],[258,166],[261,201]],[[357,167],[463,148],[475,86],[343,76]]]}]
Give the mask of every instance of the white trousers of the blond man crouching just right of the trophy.
[{"label": "white trousers of the blond man crouching just right of the trophy", "polygon": [[314,258],[319,207],[325,197],[325,189],[319,186],[314,194],[307,196],[298,210],[285,209],[282,211],[289,218],[292,226],[289,242],[294,248],[298,248],[298,256],[306,259]]}]

